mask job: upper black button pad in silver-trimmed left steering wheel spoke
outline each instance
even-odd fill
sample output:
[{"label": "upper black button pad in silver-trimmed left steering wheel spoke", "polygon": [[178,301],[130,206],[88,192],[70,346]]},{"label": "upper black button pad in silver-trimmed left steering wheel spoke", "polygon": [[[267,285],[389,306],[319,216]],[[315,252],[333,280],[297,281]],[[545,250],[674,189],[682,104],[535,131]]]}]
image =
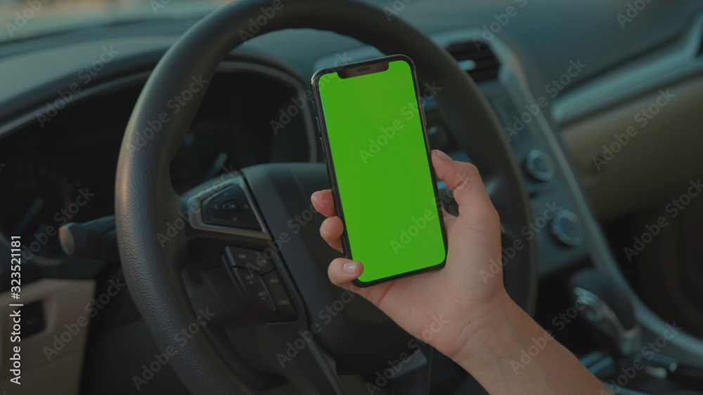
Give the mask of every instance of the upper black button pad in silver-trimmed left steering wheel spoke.
[{"label": "upper black button pad in silver-trimmed left steering wheel spoke", "polygon": [[207,225],[262,230],[241,185],[222,189],[202,201],[202,222]]}]

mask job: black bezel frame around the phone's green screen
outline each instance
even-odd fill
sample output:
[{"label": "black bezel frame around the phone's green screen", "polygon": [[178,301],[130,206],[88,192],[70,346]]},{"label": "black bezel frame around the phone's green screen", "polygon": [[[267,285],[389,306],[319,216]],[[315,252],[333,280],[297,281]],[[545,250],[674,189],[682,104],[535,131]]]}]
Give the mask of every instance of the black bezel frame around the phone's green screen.
[{"label": "black bezel frame around the phone's green screen", "polygon": [[[411,58],[408,58],[406,55],[390,55],[386,56],[384,58],[375,58],[371,60],[364,60],[361,62],[354,62],[354,63],[349,63],[348,65],[343,65],[341,67],[329,67],[326,69],[321,69],[318,70],[313,76],[311,80],[311,85],[313,88],[314,92],[314,108],[316,112],[316,119],[317,119],[317,124],[318,124],[318,130],[320,131],[320,139],[322,142],[322,147],[323,147],[323,153],[325,155],[325,162],[327,163],[327,173],[328,177],[330,178],[330,185],[332,189],[332,195],[333,198],[335,199],[335,210],[337,212],[337,216],[340,217],[342,220],[342,224],[344,225],[344,232],[342,232],[342,249],[344,250],[344,256],[347,257],[348,259],[354,259],[352,255],[352,249],[349,246],[349,237],[347,236],[347,227],[346,227],[346,222],[344,221],[344,209],[342,208],[342,202],[339,196],[338,187],[337,187],[337,177],[335,173],[335,165],[334,161],[332,158],[332,152],[330,149],[330,142],[328,139],[328,130],[327,127],[325,126],[325,116],[324,112],[322,109],[322,98],[321,98],[321,93],[320,93],[320,86],[319,86],[319,81],[321,76],[325,74],[330,74],[330,73],[339,73],[339,72],[349,72],[350,69],[359,69],[361,67],[378,67],[379,65],[383,64],[388,64],[389,62],[394,62],[394,61],[404,61],[408,64],[408,66],[411,69],[411,75],[413,79],[413,86],[415,87],[415,100],[418,105],[418,113],[420,114],[420,123],[421,123],[421,128],[423,130],[423,137],[425,139],[425,152],[427,153],[427,166],[430,168],[430,177],[432,178],[432,189],[434,190],[434,201],[437,203],[437,217],[439,218],[439,225],[441,228],[441,234],[442,234],[442,240],[444,241],[444,260],[442,260],[440,263],[437,265],[431,265],[428,267],[425,267],[423,269],[417,269],[413,270],[411,272],[404,272],[401,274],[396,274],[394,276],[389,276],[389,277],[384,277],[382,279],[375,279],[373,281],[361,281],[359,279],[355,279],[352,281],[352,283],[355,286],[358,287],[370,287],[370,286],[375,286],[376,284],[380,283],[385,283],[386,281],[392,281],[396,279],[401,279],[403,277],[407,276],[413,276],[415,274],[420,274],[420,273],[425,273],[425,272],[430,272],[432,270],[437,270],[441,269],[446,265],[446,256],[447,256],[447,250],[448,250],[448,244],[447,244],[447,237],[446,237],[446,229],[444,227],[444,216],[442,215],[442,210],[441,210],[441,201],[439,199],[439,190],[437,189],[437,175],[434,174],[434,167],[432,166],[432,157],[431,157],[431,151],[430,151],[430,140],[427,137],[427,121],[425,120],[425,108],[423,106],[423,102],[420,98],[420,88],[418,86],[418,77],[417,77],[417,72],[415,71],[415,64],[411,60]],[[386,67],[387,69],[387,67]],[[380,72],[385,71],[382,70]],[[341,76],[341,78],[355,78],[356,76],[359,75],[366,75],[366,74],[371,74],[371,73],[364,73],[364,74],[358,74],[354,76]]]}]

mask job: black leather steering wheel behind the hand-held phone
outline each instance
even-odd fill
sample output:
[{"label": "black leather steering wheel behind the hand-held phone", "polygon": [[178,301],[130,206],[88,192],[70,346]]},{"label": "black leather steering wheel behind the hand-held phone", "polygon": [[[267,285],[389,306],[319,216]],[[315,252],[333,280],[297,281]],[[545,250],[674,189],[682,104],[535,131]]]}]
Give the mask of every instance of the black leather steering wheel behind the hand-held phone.
[{"label": "black leather steering wheel behind the hand-held phone", "polygon": [[[283,377],[305,394],[343,394],[339,374],[373,374],[413,351],[410,335],[327,278],[338,253],[319,236],[323,217],[309,200],[329,187],[323,164],[244,168],[181,196],[172,187],[169,166],[219,62],[252,36],[289,28],[337,32],[412,58],[420,79],[440,87],[444,119],[481,170],[504,245],[531,221],[520,168],[494,112],[451,55],[418,29],[352,0],[241,0],[220,8],[183,34],[150,75],[115,184],[129,293],[194,394],[253,394]],[[178,112],[168,105],[176,96],[185,103]],[[508,293],[531,312],[534,240],[503,265]]]}]

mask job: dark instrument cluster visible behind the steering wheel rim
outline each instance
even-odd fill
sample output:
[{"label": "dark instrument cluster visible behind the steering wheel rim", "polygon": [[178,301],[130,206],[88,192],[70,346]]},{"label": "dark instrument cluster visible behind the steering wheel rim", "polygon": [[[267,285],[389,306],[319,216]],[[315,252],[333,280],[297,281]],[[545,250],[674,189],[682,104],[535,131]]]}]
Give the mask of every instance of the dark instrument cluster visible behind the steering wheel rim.
[{"label": "dark instrument cluster visible behind the steering wheel rim", "polygon": [[[55,116],[37,116],[4,139],[4,242],[20,235],[32,241],[34,259],[58,262],[63,257],[58,227],[114,213],[117,156],[146,76],[130,76]],[[181,194],[225,171],[259,163],[316,159],[308,114],[280,112],[296,108],[299,91],[297,81],[274,69],[224,62],[172,163],[174,190]],[[173,105],[177,111],[181,104]]]}]

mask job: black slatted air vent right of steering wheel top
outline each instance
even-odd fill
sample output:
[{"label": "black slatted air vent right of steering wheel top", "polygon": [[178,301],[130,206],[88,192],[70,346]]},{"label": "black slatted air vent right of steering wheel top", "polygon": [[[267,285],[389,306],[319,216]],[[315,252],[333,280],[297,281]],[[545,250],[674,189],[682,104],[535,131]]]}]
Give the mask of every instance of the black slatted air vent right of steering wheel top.
[{"label": "black slatted air vent right of steering wheel top", "polygon": [[459,66],[465,69],[476,82],[489,81],[498,78],[498,68],[500,62],[496,54],[491,51],[491,47],[484,41],[465,41],[452,43],[446,47],[446,51],[459,62]]}]

